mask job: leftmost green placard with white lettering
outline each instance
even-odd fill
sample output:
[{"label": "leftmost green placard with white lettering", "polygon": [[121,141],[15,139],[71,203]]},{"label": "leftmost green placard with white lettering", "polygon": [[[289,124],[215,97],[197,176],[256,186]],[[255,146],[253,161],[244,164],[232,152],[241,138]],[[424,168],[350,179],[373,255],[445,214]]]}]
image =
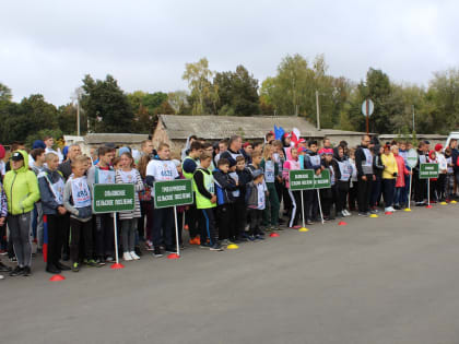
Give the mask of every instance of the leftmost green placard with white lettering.
[{"label": "leftmost green placard with white lettering", "polygon": [[93,187],[93,212],[116,213],[136,207],[133,183],[95,183]]}]

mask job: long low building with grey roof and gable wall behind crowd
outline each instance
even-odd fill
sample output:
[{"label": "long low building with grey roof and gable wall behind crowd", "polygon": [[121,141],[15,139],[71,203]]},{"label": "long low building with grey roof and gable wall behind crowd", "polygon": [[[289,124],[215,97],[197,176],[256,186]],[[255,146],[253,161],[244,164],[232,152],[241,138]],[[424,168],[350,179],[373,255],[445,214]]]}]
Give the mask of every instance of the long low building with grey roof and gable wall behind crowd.
[{"label": "long low building with grey roof and gable wall behind crowd", "polygon": [[285,131],[297,128],[302,138],[322,140],[329,138],[333,144],[348,141],[349,145],[361,142],[363,132],[333,129],[317,130],[305,118],[296,116],[179,116],[160,115],[153,133],[153,145],[167,142],[170,150],[178,154],[190,135],[209,141],[219,141],[238,134],[245,141],[263,141],[264,135],[274,130],[274,124]]}]

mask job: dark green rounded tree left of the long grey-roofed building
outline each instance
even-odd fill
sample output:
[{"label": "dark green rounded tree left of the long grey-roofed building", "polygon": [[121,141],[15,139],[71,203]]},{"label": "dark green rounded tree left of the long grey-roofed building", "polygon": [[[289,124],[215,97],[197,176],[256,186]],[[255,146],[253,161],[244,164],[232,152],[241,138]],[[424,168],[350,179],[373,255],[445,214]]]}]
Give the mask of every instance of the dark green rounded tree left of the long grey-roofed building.
[{"label": "dark green rounded tree left of the long grey-roofed building", "polygon": [[118,82],[107,75],[105,80],[83,79],[82,108],[90,119],[93,132],[132,132],[133,111]]}]

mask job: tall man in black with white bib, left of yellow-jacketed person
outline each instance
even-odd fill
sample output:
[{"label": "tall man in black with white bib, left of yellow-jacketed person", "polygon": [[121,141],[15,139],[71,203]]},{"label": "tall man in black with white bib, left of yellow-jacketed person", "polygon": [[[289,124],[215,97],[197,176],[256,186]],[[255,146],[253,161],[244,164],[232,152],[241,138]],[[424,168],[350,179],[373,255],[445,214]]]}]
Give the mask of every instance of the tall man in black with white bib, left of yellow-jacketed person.
[{"label": "tall man in black with white bib, left of yellow-jacketed person", "polygon": [[373,155],[369,152],[369,135],[363,135],[361,145],[355,151],[355,167],[357,168],[357,204],[358,215],[369,215],[369,197],[372,194],[372,186],[375,180],[373,173]]}]

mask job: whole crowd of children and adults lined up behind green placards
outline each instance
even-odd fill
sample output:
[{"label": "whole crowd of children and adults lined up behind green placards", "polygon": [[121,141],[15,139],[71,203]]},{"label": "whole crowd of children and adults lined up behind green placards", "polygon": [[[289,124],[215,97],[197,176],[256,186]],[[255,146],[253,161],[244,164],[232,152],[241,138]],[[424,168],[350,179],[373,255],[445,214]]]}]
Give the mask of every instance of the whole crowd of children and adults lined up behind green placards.
[{"label": "whole crowd of children and adults lined up behind green placards", "polygon": [[[92,213],[95,183],[134,185],[134,210],[116,215],[125,261],[141,259],[145,250],[158,258],[165,251],[176,252],[177,245],[185,248],[185,229],[190,246],[211,251],[263,240],[266,232],[321,221],[319,204],[325,221],[351,216],[353,211],[360,216],[395,212],[408,205],[410,183],[417,206],[457,197],[456,140],[445,150],[442,144],[431,150],[429,142],[420,142],[417,164],[411,169],[410,142],[380,144],[376,137],[363,135],[354,149],[344,141],[333,147],[328,139],[319,145],[293,138],[294,133],[285,133],[275,140],[270,132],[264,142],[244,143],[234,135],[211,143],[190,137],[181,159],[174,158],[168,144],[154,150],[150,140],[142,142],[136,157],[129,147],[117,151],[110,145],[91,156],[76,144],[61,153],[52,150],[49,137],[36,141],[28,153],[15,143],[8,163],[0,165],[0,254],[8,254],[15,266],[0,262],[0,271],[28,276],[33,256],[40,253],[52,274],[114,262],[114,214]],[[0,145],[0,158],[4,154]],[[438,164],[438,178],[428,183],[420,179],[422,163]],[[290,171],[297,169],[313,169],[316,175],[329,169],[331,187],[319,192],[291,190]],[[174,179],[190,179],[195,194],[193,204],[178,207],[178,237],[173,207],[155,209],[153,202],[155,181]]]}]

